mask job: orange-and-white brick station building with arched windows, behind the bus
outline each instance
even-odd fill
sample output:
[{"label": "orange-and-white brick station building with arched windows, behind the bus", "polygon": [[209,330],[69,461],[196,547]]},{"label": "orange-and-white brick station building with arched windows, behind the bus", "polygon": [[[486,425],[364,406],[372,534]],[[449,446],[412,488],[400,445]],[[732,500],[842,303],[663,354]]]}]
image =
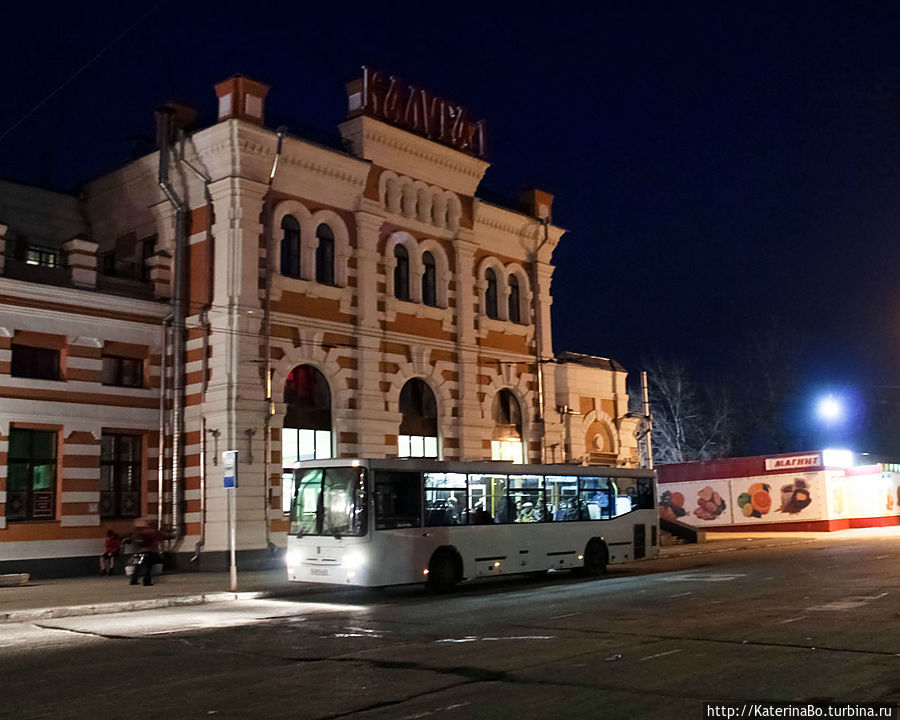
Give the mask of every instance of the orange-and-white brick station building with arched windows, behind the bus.
[{"label": "orange-and-white brick station building with arched windows, behind the bus", "polygon": [[342,143],[157,112],[158,149],[65,195],[0,181],[0,572],[93,571],[146,517],[220,567],[277,554],[293,463],[633,466],[615,362],[554,354],[553,196],[478,196],[484,124],[364,69]]}]

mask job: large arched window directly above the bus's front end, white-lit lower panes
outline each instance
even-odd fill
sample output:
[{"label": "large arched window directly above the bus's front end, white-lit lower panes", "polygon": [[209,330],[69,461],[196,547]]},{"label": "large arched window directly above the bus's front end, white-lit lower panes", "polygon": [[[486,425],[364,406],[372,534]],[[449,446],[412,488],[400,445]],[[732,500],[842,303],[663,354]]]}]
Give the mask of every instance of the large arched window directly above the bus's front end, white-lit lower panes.
[{"label": "large arched window directly above the bus's front end, white-lit lower panes", "polygon": [[331,457],[331,391],[311,365],[298,365],[284,383],[281,431],[282,509],[290,510],[294,463]]}]

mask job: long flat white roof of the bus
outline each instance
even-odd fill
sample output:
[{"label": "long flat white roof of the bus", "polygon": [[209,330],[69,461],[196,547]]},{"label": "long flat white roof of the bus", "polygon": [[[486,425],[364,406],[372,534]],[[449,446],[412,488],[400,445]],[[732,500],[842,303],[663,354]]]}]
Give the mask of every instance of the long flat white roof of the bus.
[{"label": "long flat white roof of the bus", "polygon": [[619,468],[606,465],[548,463],[515,465],[492,460],[433,460],[431,458],[337,458],[302,460],[295,469],[315,467],[366,467],[372,470],[410,470],[413,472],[458,472],[484,475],[579,475],[582,477],[656,477],[655,470]]}]

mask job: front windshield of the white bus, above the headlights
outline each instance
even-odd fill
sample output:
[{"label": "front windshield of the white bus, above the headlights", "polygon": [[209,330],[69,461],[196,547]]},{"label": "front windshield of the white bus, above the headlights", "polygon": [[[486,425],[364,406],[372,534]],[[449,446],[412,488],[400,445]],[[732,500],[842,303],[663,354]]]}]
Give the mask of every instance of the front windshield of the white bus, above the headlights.
[{"label": "front windshield of the white bus, above the headlights", "polygon": [[315,468],[297,471],[291,502],[291,534],[361,536],[366,534],[365,470]]}]

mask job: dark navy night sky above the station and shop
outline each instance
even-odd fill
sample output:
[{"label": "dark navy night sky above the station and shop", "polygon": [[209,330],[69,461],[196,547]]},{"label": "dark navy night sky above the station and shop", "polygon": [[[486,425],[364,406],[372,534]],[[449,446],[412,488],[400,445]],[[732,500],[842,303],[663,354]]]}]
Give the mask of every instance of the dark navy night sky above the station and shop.
[{"label": "dark navy night sky above the station and shop", "polygon": [[486,119],[490,196],[556,194],[557,352],[718,373],[779,333],[798,412],[821,391],[900,403],[877,389],[900,385],[900,4],[530,7],[7,8],[0,176],[71,190],[165,101],[212,122],[235,73],[272,86],[267,124],[334,136],[368,64]]}]

